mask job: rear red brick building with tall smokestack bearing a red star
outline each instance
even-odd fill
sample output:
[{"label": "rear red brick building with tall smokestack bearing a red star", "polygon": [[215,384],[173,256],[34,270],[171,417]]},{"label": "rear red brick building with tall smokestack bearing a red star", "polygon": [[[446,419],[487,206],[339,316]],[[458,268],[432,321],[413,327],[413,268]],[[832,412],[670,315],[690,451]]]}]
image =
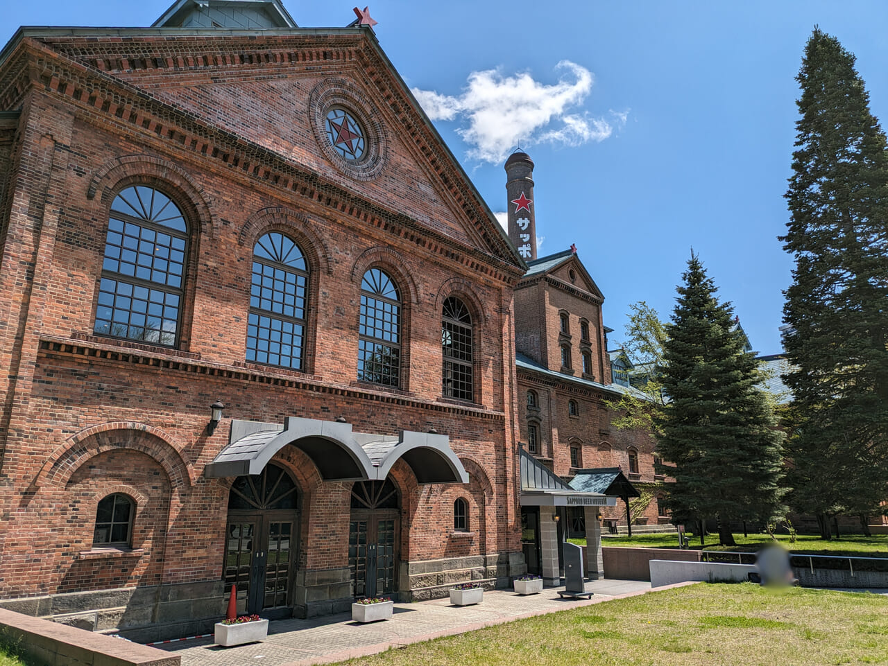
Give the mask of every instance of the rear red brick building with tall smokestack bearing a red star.
[{"label": "rear red brick building with tall smokestack bearing a red star", "polygon": [[[607,353],[604,294],[591,278],[575,248],[536,257],[532,201],[533,161],[514,153],[506,161],[509,235],[524,248],[527,273],[515,287],[515,348],[518,351],[518,420],[527,452],[562,481],[583,470],[619,467],[638,489],[635,524],[669,524],[658,503],[664,477],[654,474],[654,439],[646,431],[611,425],[609,403],[631,390],[614,381]],[[523,197],[523,198],[522,198]],[[531,230],[534,230],[532,232]],[[601,505],[594,511],[578,505],[536,506],[522,503],[528,567],[536,562],[528,535],[533,526],[558,518],[558,540],[565,533],[597,540],[598,520],[626,525],[625,505]],[[553,520],[552,520],[553,521]],[[538,542],[539,539],[537,538]],[[539,549],[539,544],[536,545]],[[552,574],[554,576],[554,574]]]}]

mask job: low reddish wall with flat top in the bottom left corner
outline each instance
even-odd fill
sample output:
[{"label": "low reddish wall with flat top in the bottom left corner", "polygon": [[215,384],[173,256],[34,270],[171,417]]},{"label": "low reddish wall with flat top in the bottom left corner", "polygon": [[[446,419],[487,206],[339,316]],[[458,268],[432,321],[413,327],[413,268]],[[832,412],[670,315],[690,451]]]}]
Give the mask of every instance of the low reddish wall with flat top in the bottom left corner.
[{"label": "low reddish wall with flat top in the bottom left corner", "polygon": [[48,666],[180,666],[182,662],[178,654],[3,608],[0,637]]}]

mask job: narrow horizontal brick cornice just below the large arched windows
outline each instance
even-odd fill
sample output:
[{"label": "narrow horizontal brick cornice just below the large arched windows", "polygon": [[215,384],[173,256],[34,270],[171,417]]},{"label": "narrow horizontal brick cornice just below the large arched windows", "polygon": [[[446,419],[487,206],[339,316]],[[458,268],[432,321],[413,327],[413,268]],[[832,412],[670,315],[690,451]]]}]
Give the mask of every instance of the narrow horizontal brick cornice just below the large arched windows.
[{"label": "narrow horizontal brick cornice just below the large arched windows", "polygon": [[496,421],[505,419],[505,414],[502,411],[479,409],[468,405],[445,404],[421,400],[411,396],[386,393],[385,391],[323,382],[310,375],[303,375],[295,371],[275,372],[274,368],[271,367],[260,371],[255,366],[247,367],[246,365],[213,363],[194,357],[182,357],[165,349],[148,350],[144,349],[144,346],[141,349],[128,348],[114,343],[103,344],[92,340],[77,340],[75,338],[43,335],[40,338],[40,353],[46,357],[82,357],[111,364],[139,365],[157,370],[186,372],[203,377],[216,377],[220,380],[258,383],[281,388],[297,388],[313,393],[372,400],[377,403],[437,411],[466,418]]}]

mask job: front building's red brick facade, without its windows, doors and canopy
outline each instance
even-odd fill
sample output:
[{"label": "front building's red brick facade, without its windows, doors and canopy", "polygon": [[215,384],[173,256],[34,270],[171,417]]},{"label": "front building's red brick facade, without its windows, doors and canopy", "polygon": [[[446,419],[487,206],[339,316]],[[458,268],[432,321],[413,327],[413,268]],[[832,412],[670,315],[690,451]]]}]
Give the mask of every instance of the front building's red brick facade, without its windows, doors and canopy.
[{"label": "front building's red brick facade, without its windows, doors and canopy", "polygon": [[[413,106],[366,28],[161,36],[20,33],[0,63],[0,599],[33,615],[97,614],[136,638],[200,631],[224,610],[231,478],[204,467],[231,419],[288,416],[398,435],[434,428],[470,482],[423,484],[403,459],[402,599],[521,573],[512,290],[523,266]],[[360,114],[361,168],[319,118]],[[94,333],[109,207],[140,184],[186,223],[176,344]],[[308,266],[304,371],[245,360],[253,246],[279,231]],[[400,288],[401,382],[357,380],[361,278]],[[470,310],[474,400],[442,396],[441,307]],[[596,319],[596,321],[598,321]],[[210,404],[225,404],[210,435]],[[295,447],[290,581],[299,615],[352,600],[351,482]],[[136,506],[131,548],[97,548],[99,501]],[[456,498],[469,531],[454,531]],[[35,536],[38,535],[38,538]]]}]

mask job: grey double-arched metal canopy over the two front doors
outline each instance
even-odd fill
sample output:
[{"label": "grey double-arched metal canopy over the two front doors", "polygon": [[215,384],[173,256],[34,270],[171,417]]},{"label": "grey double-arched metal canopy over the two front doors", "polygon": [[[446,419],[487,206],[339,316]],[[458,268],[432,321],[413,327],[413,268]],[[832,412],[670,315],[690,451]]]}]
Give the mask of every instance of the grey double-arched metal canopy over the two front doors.
[{"label": "grey double-arched metal canopy over the two front doors", "polygon": [[355,433],[352,424],[318,419],[274,423],[232,421],[230,443],[204,468],[214,479],[261,474],[274,454],[295,446],[317,466],[324,481],[385,481],[399,458],[420,483],[468,483],[447,435],[404,430],[397,437]]}]

